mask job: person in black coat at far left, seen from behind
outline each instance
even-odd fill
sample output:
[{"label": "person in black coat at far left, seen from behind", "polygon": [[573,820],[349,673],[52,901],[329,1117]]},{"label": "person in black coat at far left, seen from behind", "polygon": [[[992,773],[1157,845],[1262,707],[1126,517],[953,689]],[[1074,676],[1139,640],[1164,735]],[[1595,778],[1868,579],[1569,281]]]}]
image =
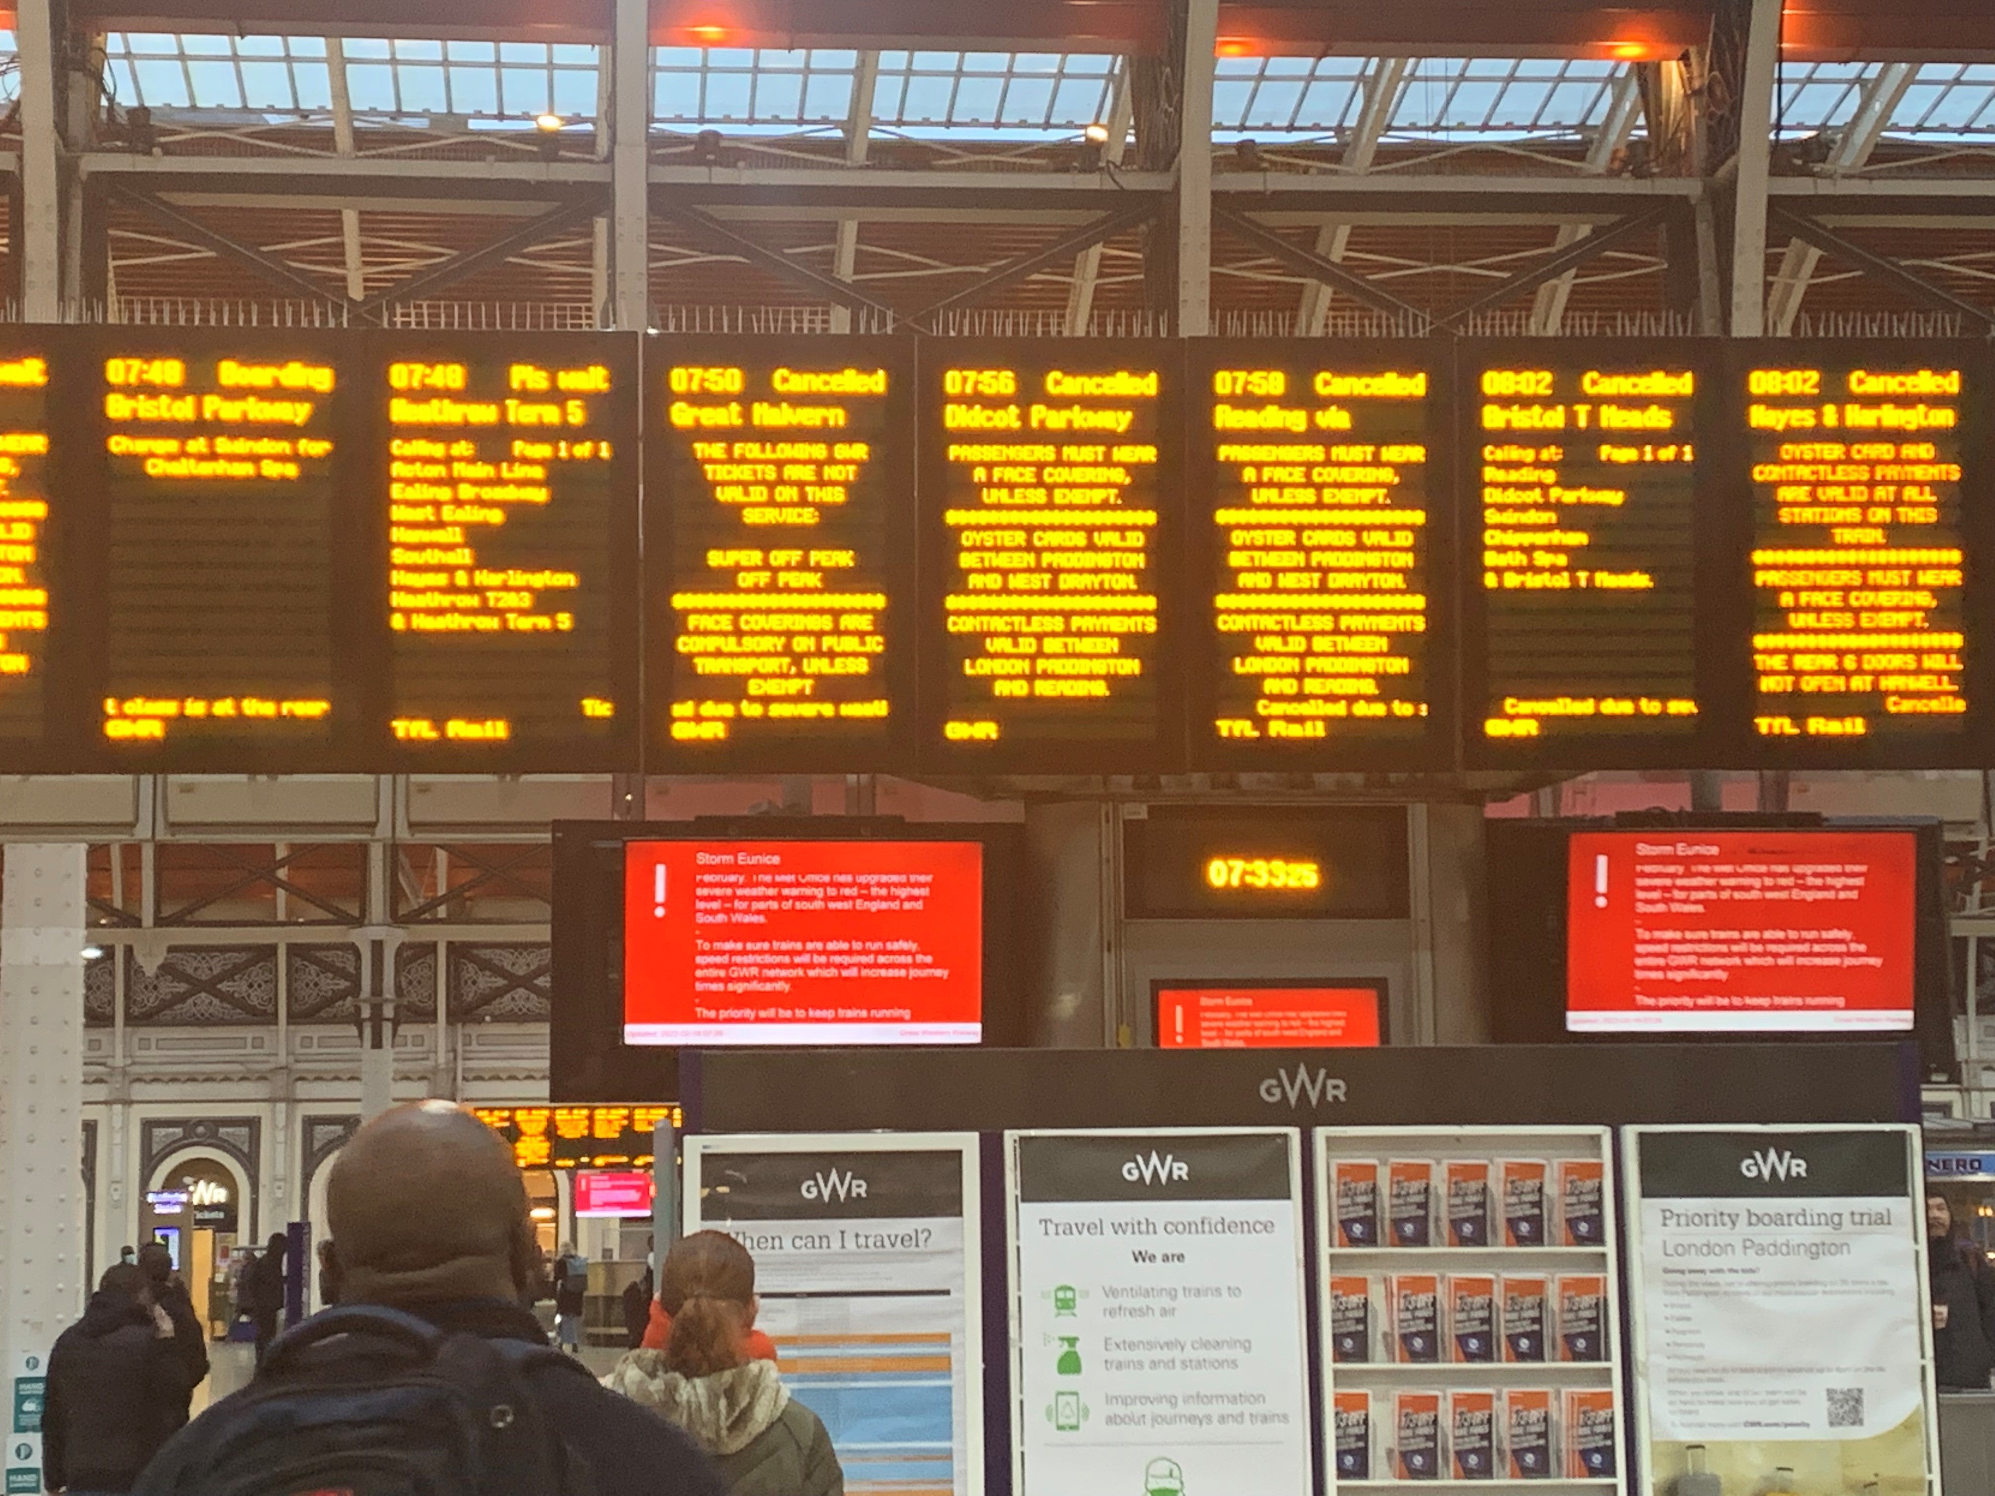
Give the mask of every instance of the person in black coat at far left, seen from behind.
[{"label": "person in black coat at far left, seen from behind", "polygon": [[42,1484],[128,1492],[188,1420],[188,1378],[174,1322],[134,1263],[104,1271],[84,1318],[48,1352]]}]

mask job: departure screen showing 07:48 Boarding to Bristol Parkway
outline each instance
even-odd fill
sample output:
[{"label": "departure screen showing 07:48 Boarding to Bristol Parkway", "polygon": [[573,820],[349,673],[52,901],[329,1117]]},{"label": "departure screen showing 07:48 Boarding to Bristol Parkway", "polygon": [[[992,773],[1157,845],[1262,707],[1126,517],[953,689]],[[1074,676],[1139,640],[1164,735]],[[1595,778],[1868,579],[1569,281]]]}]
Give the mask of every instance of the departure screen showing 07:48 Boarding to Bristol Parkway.
[{"label": "departure screen showing 07:48 Boarding to Bristol Parkway", "polygon": [[327,343],[182,333],[92,345],[104,740],[323,746],[341,379]]}]

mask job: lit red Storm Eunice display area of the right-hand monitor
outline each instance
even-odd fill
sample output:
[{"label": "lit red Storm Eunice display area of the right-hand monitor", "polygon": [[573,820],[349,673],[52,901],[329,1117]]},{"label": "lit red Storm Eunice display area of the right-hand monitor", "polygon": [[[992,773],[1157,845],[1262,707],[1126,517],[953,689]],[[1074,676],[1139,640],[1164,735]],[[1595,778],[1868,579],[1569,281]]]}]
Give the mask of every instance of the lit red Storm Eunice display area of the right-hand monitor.
[{"label": "lit red Storm Eunice display area of the right-hand monitor", "polygon": [[1566,1029],[1909,1031],[1907,832],[1580,832]]}]

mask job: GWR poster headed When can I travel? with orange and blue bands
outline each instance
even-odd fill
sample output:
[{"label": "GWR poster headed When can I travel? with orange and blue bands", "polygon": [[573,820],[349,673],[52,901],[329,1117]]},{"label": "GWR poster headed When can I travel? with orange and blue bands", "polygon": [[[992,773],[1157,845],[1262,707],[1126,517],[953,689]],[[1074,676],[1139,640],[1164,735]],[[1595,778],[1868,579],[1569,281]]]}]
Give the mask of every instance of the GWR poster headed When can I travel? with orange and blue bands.
[{"label": "GWR poster headed When can I travel? with orange and blue bands", "polygon": [[974,1133],[690,1137],[686,1231],[756,1259],[760,1328],[846,1496],[984,1490]]}]

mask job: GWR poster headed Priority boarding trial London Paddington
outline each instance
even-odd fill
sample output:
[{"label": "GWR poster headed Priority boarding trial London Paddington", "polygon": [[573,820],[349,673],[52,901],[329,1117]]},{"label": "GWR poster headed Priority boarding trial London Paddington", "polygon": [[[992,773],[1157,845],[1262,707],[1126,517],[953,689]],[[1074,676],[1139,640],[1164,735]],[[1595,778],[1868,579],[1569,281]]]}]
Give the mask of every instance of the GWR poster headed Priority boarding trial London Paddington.
[{"label": "GWR poster headed Priority boarding trial London Paddington", "polygon": [[1630,1129],[1650,1490],[1933,1490],[1915,1127]]}]

